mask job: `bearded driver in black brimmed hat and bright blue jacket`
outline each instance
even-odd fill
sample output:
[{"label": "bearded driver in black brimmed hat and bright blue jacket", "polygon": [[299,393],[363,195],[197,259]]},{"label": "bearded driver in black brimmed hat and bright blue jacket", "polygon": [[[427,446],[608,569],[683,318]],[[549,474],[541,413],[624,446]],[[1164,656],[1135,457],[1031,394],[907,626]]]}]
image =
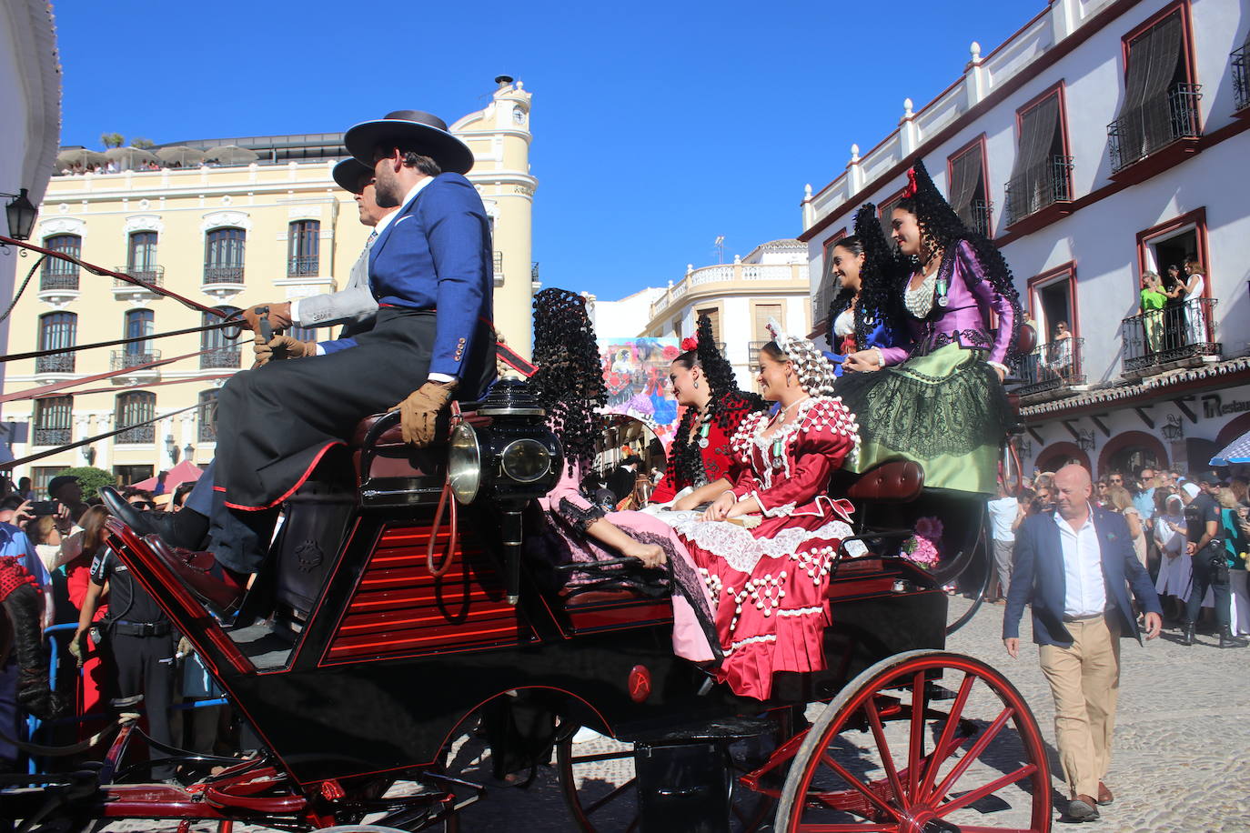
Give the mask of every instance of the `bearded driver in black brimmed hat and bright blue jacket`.
[{"label": "bearded driver in black brimmed hat and bright blue jacket", "polygon": [[320,343],[275,337],[275,361],[231,377],[218,398],[214,488],[222,502],[209,551],[149,538],[218,611],[242,599],[280,503],[364,416],[400,410],[404,438],[425,446],[452,396],[478,398],[495,376],[490,224],[464,176],[469,146],[440,119],[410,110],[356,125],[344,141],[372,167],[378,204],[399,206],[369,255],[374,326]]}]

